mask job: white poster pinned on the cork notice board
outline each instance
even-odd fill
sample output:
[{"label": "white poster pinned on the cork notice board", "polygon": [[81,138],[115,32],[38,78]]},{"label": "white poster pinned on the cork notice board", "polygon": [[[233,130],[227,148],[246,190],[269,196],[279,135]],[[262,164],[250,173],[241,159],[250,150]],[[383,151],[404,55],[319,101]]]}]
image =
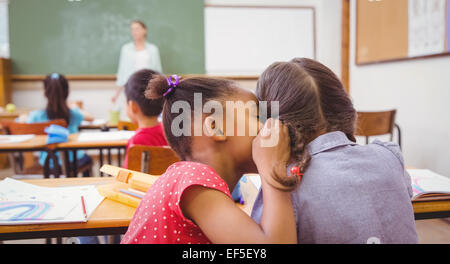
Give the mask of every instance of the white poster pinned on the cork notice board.
[{"label": "white poster pinned on the cork notice board", "polygon": [[445,46],[448,35],[447,0],[409,0],[408,9],[408,56],[419,57],[448,51]]}]

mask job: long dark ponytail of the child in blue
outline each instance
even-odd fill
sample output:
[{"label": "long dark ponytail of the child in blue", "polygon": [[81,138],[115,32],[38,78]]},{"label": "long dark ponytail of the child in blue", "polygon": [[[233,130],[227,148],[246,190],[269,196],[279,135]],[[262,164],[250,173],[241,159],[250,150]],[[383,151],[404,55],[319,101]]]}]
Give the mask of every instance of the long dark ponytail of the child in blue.
[{"label": "long dark ponytail of the child in blue", "polygon": [[44,91],[47,97],[45,111],[48,119],[64,119],[69,124],[70,109],[66,102],[69,96],[69,83],[66,77],[59,73],[47,75],[44,79]]}]

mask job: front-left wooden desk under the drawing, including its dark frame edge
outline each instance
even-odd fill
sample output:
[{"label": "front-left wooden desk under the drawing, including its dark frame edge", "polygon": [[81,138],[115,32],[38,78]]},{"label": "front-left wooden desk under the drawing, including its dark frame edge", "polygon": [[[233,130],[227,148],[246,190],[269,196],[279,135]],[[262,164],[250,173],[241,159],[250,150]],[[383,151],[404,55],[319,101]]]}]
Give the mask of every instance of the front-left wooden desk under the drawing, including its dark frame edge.
[{"label": "front-left wooden desk under the drawing, including its dark frame edge", "polygon": [[[61,187],[105,184],[112,182],[113,178],[61,178],[24,181],[40,186]],[[105,199],[86,223],[0,225],[0,240],[124,234],[135,210],[136,208]]]}]

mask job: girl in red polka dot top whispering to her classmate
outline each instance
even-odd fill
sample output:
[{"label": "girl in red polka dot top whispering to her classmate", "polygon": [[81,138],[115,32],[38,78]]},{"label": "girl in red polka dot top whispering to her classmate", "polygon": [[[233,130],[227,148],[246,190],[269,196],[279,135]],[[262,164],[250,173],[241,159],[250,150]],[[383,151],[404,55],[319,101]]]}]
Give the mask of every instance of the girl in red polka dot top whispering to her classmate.
[{"label": "girl in red polka dot top whispering to her classmate", "polygon": [[[192,77],[179,81],[177,76],[156,75],[149,80],[146,96],[164,97],[164,132],[182,161],[171,165],[149,188],[121,243],[297,242],[289,191],[298,178],[286,175],[287,128],[269,119],[257,136],[238,133],[240,127],[250,131],[261,125],[252,114],[255,111],[245,109],[248,105],[257,108],[253,93],[227,80]],[[194,109],[198,98],[206,104],[203,111]],[[243,104],[235,104],[236,112],[228,114],[228,101]],[[211,109],[205,110],[208,103],[215,107],[212,115],[208,114]],[[223,120],[215,115],[220,111],[227,113]],[[229,118],[234,126],[226,122]],[[195,131],[196,122],[203,127],[200,133]],[[278,144],[261,146],[272,136],[278,137]],[[259,224],[231,198],[230,190],[245,173],[261,176],[264,208]]]}]

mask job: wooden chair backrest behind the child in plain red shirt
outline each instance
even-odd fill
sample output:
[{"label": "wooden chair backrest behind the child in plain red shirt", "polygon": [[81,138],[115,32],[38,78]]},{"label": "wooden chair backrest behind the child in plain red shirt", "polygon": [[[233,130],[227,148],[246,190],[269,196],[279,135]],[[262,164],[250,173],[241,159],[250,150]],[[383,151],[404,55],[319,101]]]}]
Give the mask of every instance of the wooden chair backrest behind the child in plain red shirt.
[{"label": "wooden chair backrest behind the child in plain red shirt", "polygon": [[170,147],[133,145],[128,148],[128,169],[161,175],[173,163],[180,161]]}]

